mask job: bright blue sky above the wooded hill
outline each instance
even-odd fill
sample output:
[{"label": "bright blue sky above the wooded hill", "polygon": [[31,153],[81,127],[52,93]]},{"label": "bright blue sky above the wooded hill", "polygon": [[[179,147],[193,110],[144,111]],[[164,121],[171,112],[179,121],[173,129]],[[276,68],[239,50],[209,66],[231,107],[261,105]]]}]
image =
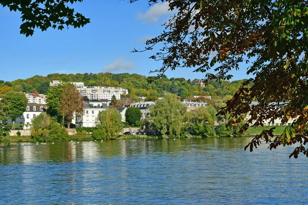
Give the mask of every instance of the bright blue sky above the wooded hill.
[{"label": "bright blue sky above the wooded hill", "polygon": [[[77,12],[91,19],[80,29],[35,30],[20,34],[20,13],[0,8],[0,79],[12,81],[50,73],[138,73],[159,69],[160,62],[148,59],[152,52],[131,53],[158,35],[172,14],[167,5],[149,7],[147,1],[130,4],[120,0],[85,0],[74,4]],[[246,65],[245,65],[246,67]],[[247,78],[246,69],[233,72],[233,80]],[[166,72],[168,77],[204,78],[192,69]]]}]

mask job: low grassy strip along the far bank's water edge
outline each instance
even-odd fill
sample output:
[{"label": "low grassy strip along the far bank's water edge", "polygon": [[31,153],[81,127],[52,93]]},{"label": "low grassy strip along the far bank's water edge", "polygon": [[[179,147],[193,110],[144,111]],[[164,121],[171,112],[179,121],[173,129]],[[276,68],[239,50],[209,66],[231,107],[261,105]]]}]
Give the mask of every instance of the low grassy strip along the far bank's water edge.
[{"label": "low grassy strip along the far bank's water edge", "polygon": [[[272,128],[271,126],[264,126],[264,127],[250,127],[247,131],[246,134],[243,136],[239,136],[239,137],[250,137],[250,136],[255,136],[257,134],[260,134],[262,132],[262,130],[267,130]],[[273,134],[274,135],[281,135],[282,132],[284,131],[284,127],[276,127],[274,129]],[[220,137],[220,136],[215,136],[215,137]],[[234,137],[234,136],[229,136],[229,137]],[[6,139],[8,139],[10,141],[10,143],[18,143],[18,142],[34,142],[31,139],[31,136],[7,136],[5,137]],[[117,137],[113,137],[110,138],[111,140],[114,139],[172,139],[172,138],[176,138],[174,135],[170,136],[170,135],[162,135],[162,136],[151,136],[151,135],[118,135]],[[207,138],[207,137],[202,137],[202,136],[198,136],[198,135],[187,135],[186,137],[177,137],[177,138]],[[72,135],[70,140],[73,141],[94,141],[94,138],[92,137],[91,134],[76,134],[76,135]],[[62,140],[62,141],[70,141],[70,140]],[[100,141],[100,140],[97,140]],[[48,142],[52,142],[52,141],[48,141]]]}]

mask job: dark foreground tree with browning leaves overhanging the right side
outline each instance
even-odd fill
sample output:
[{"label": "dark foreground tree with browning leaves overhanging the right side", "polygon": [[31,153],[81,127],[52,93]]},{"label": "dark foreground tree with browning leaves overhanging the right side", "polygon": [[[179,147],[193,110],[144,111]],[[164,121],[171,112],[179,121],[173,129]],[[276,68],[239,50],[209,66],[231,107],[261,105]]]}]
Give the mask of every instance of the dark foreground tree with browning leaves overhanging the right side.
[{"label": "dark foreground tree with browning leaves overhanging the right side", "polygon": [[[145,50],[156,52],[151,58],[162,60],[157,71],[163,74],[167,69],[188,67],[205,72],[207,79],[220,80],[230,79],[230,70],[245,67],[254,78],[248,79],[225,107],[236,119],[246,113],[252,116],[242,131],[249,124],[262,126],[265,119],[281,118],[284,124],[296,118],[291,127],[285,128],[286,134],[274,137],[273,130],[263,131],[248,145],[249,149],[253,151],[261,140],[271,149],[300,142],[290,157],[300,152],[308,157],[304,146],[308,141],[307,1],[162,2],[168,2],[169,9],[177,12],[160,35],[146,42]],[[156,45],[163,46],[156,51]],[[251,106],[252,100],[259,104]]]}]

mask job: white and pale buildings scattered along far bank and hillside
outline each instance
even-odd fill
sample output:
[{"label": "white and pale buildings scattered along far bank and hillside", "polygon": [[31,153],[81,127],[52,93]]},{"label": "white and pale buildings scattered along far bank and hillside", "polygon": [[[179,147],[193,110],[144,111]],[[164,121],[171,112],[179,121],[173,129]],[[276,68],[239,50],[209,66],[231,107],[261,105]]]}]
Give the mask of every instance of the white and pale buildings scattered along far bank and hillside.
[{"label": "white and pale buildings scattered along far bank and hillside", "polygon": [[[57,86],[61,84],[60,81],[54,80],[50,83],[51,86]],[[72,124],[76,127],[94,127],[95,126],[95,119],[97,118],[98,114],[106,110],[108,105],[111,101],[110,95],[115,95],[117,99],[121,99],[121,94],[128,94],[128,90],[125,88],[113,88],[113,87],[85,87],[82,82],[71,82],[71,84],[75,85],[77,89],[80,90],[82,96],[87,96],[89,101],[85,101],[84,103],[84,113],[82,115],[77,115],[72,120]],[[18,124],[23,129],[30,129],[31,121],[37,115],[41,114],[42,112],[46,112],[47,105],[46,105],[46,95],[42,94],[33,94],[28,93],[26,94],[28,98],[28,105],[26,111],[23,113],[22,116],[18,117],[15,120],[15,123]],[[199,96],[195,96],[199,97]],[[210,96],[207,96],[210,99]],[[124,99],[125,101],[125,99]],[[207,107],[207,103],[205,102],[198,102],[198,101],[183,101],[181,102],[186,108],[187,111],[194,110],[200,107]],[[257,104],[257,102],[253,103],[252,105]],[[140,120],[147,120],[147,114],[149,113],[149,107],[151,105],[155,105],[153,101],[147,102],[139,102],[139,103],[126,103],[124,107],[117,108],[117,110],[121,114],[122,121],[125,121],[125,112],[127,108],[134,107],[139,108],[142,116]],[[249,116],[246,117],[246,120]],[[294,119],[290,119],[287,124],[291,125]],[[8,124],[11,124],[12,120],[8,120]],[[281,119],[275,119],[274,122],[270,122],[270,120],[266,120],[264,122],[266,126],[282,126]]]}]

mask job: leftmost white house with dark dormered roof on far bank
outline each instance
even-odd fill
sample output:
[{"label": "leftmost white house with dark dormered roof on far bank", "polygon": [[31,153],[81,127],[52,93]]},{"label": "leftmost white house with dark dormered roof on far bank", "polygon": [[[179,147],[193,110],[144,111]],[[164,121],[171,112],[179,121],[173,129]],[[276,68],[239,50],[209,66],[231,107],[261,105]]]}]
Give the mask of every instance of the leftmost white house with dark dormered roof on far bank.
[{"label": "leftmost white house with dark dormered roof on far bank", "polygon": [[[32,119],[42,112],[46,112],[46,105],[37,104],[37,103],[28,103],[26,111],[20,117],[15,119],[15,124],[22,124],[24,130],[29,130],[31,128]],[[12,124],[12,119],[7,121],[8,124]]]}]

